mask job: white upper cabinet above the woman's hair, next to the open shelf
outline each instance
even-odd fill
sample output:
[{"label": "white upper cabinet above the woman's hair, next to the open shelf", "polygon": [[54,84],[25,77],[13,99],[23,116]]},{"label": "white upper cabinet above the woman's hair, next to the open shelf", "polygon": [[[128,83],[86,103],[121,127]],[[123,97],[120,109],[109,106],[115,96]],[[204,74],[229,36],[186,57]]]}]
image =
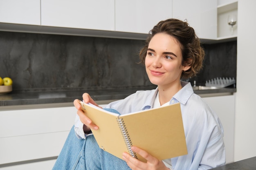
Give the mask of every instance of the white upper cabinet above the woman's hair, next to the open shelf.
[{"label": "white upper cabinet above the woman's hair, next to the open shelf", "polygon": [[186,19],[200,39],[217,38],[217,0],[173,0],[173,18]]}]

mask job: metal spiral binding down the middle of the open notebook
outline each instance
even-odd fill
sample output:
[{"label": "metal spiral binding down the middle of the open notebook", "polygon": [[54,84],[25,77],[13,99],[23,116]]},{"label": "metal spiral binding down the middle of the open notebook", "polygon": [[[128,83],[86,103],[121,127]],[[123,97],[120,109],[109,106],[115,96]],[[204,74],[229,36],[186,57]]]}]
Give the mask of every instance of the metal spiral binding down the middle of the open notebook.
[{"label": "metal spiral binding down the middle of the open notebook", "polygon": [[124,138],[124,141],[126,143],[126,148],[128,149],[128,152],[129,154],[132,156],[132,157],[135,157],[137,158],[137,155],[135,152],[132,151],[131,147],[132,147],[132,141],[130,140],[130,136],[128,134],[128,131],[127,131],[127,128],[124,124],[124,121],[123,119],[117,119],[117,123],[118,123],[118,126],[121,130],[121,133],[122,133],[122,136]]}]

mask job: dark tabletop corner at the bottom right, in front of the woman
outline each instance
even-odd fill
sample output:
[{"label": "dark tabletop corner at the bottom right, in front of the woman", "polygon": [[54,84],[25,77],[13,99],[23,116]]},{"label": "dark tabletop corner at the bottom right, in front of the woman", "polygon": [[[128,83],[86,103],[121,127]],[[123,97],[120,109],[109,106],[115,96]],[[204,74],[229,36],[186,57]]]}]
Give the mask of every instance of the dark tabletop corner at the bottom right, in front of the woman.
[{"label": "dark tabletop corner at the bottom right, in front of the woman", "polygon": [[229,163],[211,170],[256,170],[256,157]]}]

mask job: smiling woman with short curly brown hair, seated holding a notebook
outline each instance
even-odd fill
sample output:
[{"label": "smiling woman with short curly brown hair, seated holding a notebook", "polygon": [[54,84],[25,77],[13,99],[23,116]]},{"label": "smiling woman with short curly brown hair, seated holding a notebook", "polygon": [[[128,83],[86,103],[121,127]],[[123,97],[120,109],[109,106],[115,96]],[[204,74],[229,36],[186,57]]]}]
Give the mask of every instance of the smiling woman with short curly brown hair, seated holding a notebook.
[{"label": "smiling woman with short curly brown hair, seated holding a notebook", "polygon": [[[158,160],[133,146],[132,150],[144,157],[146,163],[126,152],[123,153],[124,160],[108,154],[98,147],[92,135],[86,137],[91,128],[97,130],[98,127],[85,116],[76,99],[74,106],[78,109],[78,116],[74,130],[78,138],[74,137],[73,131],[70,132],[56,161],[56,169],[61,169],[63,161],[73,169],[81,170],[206,170],[225,164],[220,120],[202,98],[193,93],[191,84],[181,81],[182,78],[195,76],[202,68],[204,51],[193,28],[176,19],[160,21],[150,31],[139,56],[141,63],[145,64],[150,82],[157,88],[137,91],[125,99],[108,104],[106,109],[127,114],[180,102],[188,154]],[[98,106],[87,93],[83,94],[83,100]],[[66,165],[65,168],[68,169]]]}]

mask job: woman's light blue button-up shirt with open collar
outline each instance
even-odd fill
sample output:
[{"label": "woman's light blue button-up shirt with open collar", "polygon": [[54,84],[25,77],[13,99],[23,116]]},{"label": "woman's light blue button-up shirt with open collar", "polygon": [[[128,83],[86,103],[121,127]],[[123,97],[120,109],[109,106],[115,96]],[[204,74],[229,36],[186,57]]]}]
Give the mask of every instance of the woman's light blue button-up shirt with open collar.
[{"label": "woman's light blue button-up shirt with open collar", "polygon": [[[204,100],[193,92],[189,82],[181,82],[182,89],[170,100],[180,102],[188,154],[171,159],[174,170],[207,170],[225,164],[223,127],[216,113]],[[153,107],[158,88],[137,91],[125,99],[112,102],[106,108],[113,108],[121,114],[137,112]],[[83,124],[76,119],[75,131],[85,138]]]}]

